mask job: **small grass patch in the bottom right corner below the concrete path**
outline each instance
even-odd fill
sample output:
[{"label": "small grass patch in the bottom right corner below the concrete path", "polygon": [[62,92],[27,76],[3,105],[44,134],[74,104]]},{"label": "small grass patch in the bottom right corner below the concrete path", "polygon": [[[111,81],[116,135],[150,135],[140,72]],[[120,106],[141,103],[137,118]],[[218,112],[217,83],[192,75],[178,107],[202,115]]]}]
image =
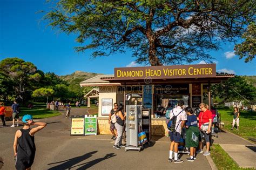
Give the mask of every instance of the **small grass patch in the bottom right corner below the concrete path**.
[{"label": "small grass patch in the bottom right corner below the concrete path", "polygon": [[211,157],[218,169],[253,169],[240,168],[237,163],[219,145],[212,145]]}]

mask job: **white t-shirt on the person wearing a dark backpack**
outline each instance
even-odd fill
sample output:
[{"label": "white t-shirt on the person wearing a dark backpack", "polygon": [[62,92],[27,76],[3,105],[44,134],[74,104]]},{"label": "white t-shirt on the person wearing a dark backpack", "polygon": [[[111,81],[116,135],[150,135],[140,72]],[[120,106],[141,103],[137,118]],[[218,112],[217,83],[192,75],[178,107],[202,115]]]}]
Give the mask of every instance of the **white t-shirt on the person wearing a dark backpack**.
[{"label": "white t-shirt on the person wearing a dark backpack", "polygon": [[186,112],[180,106],[177,106],[177,107],[175,107],[175,108],[173,108],[171,110],[170,119],[172,119],[173,114],[174,115],[178,115],[179,114],[178,117],[176,118],[176,126],[175,126],[175,128],[176,128],[176,132],[179,132],[179,134],[181,134],[181,121],[187,120],[187,114],[186,114]]}]

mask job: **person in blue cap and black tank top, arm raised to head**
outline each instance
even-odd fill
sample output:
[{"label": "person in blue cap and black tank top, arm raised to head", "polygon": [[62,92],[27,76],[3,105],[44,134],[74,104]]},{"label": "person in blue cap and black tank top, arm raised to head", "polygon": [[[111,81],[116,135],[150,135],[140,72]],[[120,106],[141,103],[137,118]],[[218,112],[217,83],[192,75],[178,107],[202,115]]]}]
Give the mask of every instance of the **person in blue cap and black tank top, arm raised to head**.
[{"label": "person in blue cap and black tank top, arm raised to head", "polygon": [[[31,169],[36,154],[34,135],[42,130],[46,123],[34,122],[30,114],[24,115],[22,122],[23,128],[16,132],[14,139],[15,167],[16,169]],[[37,125],[37,127],[30,128],[31,125]]]}]

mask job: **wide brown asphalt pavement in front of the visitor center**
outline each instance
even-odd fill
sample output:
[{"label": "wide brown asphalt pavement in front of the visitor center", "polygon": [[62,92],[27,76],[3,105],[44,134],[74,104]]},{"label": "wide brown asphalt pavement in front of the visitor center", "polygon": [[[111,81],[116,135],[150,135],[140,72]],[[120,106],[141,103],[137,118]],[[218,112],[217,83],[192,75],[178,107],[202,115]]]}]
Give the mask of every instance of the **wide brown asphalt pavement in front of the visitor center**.
[{"label": "wide brown asphalt pavement in front of the visitor center", "polygon": [[[72,108],[71,115],[83,115],[86,109]],[[206,157],[199,154],[195,162],[168,162],[169,141],[162,137],[142,152],[114,149],[111,135],[70,137],[70,119],[65,115],[42,119],[48,125],[36,134],[37,147],[32,169],[211,169]],[[11,125],[11,122],[8,122]],[[13,141],[21,127],[2,127],[0,123],[0,157],[3,169],[15,169]],[[181,159],[188,158],[180,155]]]}]

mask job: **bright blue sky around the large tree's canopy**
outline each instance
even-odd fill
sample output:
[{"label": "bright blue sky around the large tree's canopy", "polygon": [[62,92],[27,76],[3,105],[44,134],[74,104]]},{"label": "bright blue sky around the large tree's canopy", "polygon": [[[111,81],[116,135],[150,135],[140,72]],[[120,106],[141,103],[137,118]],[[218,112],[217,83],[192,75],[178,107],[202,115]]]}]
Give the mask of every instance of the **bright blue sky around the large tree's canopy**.
[{"label": "bright blue sky around the large tree's canopy", "polygon": [[[39,70],[58,75],[75,71],[113,74],[114,67],[141,66],[134,63],[131,52],[109,57],[91,58],[92,51],[77,53],[75,36],[58,33],[40,21],[49,11],[45,0],[0,0],[0,60],[18,57],[32,62]],[[210,52],[218,72],[256,75],[256,61],[244,63],[233,53],[234,43],[223,44],[222,50]],[[196,64],[204,63],[198,61]]]}]

